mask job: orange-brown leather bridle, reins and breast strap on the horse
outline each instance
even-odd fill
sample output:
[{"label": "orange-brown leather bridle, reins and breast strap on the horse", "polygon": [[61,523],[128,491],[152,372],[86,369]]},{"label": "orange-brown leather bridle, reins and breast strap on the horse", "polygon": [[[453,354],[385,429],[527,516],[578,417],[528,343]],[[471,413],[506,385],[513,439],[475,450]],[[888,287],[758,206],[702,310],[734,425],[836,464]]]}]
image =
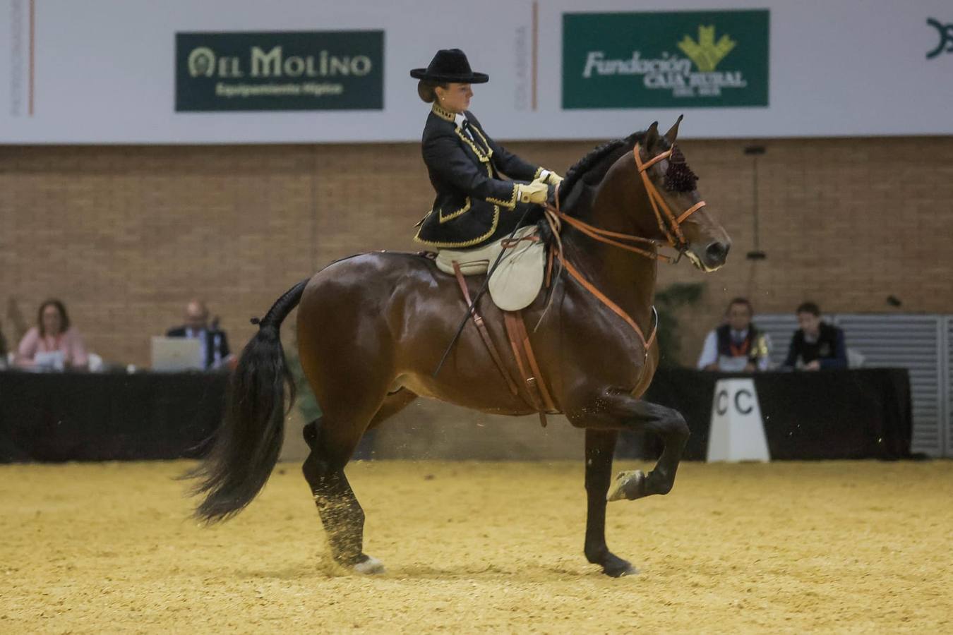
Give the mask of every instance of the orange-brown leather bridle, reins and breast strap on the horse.
[{"label": "orange-brown leather bridle, reins and breast strap on the horse", "polygon": [[[639,144],[636,144],[636,147],[632,149],[632,154],[636,159],[636,166],[639,168],[639,176],[641,176],[642,183],[645,185],[645,191],[648,194],[649,202],[652,204],[652,210],[655,212],[656,220],[659,222],[659,229],[661,229],[661,232],[664,234],[668,244],[671,247],[679,250],[680,258],[681,252],[687,248],[687,243],[685,242],[684,234],[682,234],[681,228],[679,226],[685,222],[685,219],[687,219],[689,216],[694,214],[700,208],[705,207],[705,202],[699,201],[692,207],[681,212],[679,216],[676,216],[672,212],[672,209],[669,208],[664,197],[661,195],[661,193],[659,193],[659,189],[655,187],[655,184],[652,183],[652,179],[650,179],[648,175],[649,168],[659,163],[659,161],[672,156],[672,149],[667,149],[644,163],[642,163],[641,158],[639,157]],[[556,257],[559,260],[559,264],[562,266],[562,268],[565,268],[566,271],[569,272],[569,275],[575,278],[583,288],[596,296],[599,302],[612,310],[612,312],[622,318],[630,327],[632,327],[634,331],[636,331],[636,334],[639,335],[639,340],[641,340],[642,347],[645,350],[645,357],[648,358],[649,348],[651,348],[652,344],[655,342],[656,334],[659,330],[658,311],[656,311],[655,307],[652,308],[652,312],[655,315],[655,320],[653,321],[654,324],[652,325],[652,331],[649,334],[648,339],[646,339],[642,329],[639,328],[639,325],[636,323],[636,321],[632,319],[632,316],[626,313],[625,310],[619,307],[615,302],[610,300],[595,285],[586,280],[582,273],[580,273],[579,270],[563,256],[562,239],[560,238],[562,221],[565,221],[567,225],[578,229],[581,233],[584,233],[590,238],[598,240],[600,243],[605,243],[606,245],[625,249],[626,251],[632,251],[633,253],[638,253],[640,256],[644,256],[652,260],[659,260],[666,263],[676,263],[678,262],[679,258],[672,258],[671,256],[661,254],[654,248],[639,248],[634,245],[627,245],[626,243],[622,242],[629,241],[633,243],[647,243],[648,245],[654,247],[658,244],[658,241],[653,239],[597,228],[563,212],[561,209],[559,209],[558,186],[556,188],[556,194],[553,198],[556,203],[555,207],[547,204],[544,209],[546,212],[546,220],[549,222],[549,226],[553,230],[553,236],[556,238]],[[553,249],[550,249],[550,271],[552,271],[552,259]]]}]

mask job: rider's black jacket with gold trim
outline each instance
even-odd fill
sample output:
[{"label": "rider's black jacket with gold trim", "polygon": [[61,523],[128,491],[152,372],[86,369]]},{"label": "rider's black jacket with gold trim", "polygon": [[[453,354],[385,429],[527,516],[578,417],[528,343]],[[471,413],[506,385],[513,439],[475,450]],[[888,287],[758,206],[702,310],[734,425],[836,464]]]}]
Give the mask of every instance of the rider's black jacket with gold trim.
[{"label": "rider's black jacket with gold trim", "polygon": [[477,248],[509,234],[526,207],[517,203],[517,182],[502,175],[529,182],[542,171],[498,145],[472,112],[464,115],[472,139],[436,104],[423,129],[423,160],[436,198],[415,240],[429,247]]}]

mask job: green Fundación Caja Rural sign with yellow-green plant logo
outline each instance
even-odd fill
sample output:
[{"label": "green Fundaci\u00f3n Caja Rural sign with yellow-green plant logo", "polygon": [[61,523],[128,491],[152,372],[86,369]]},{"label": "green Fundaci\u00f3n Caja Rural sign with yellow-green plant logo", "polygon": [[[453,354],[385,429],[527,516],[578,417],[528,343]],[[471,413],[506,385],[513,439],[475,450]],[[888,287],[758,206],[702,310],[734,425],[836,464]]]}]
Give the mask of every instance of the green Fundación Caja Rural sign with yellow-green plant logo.
[{"label": "green Fundaci\u00f3n Caja Rural sign with yellow-green plant logo", "polygon": [[563,13],[562,108],[768,105],[767,10]]}]

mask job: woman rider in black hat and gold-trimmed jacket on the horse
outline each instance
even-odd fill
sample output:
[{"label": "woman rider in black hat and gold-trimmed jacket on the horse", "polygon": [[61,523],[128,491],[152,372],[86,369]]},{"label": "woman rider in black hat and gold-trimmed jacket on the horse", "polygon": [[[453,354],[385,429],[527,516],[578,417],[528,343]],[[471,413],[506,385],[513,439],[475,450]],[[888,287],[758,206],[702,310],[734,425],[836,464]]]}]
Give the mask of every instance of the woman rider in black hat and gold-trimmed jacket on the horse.
[{"label": "woman rider in black hat and gold-trimmed jacket on the horse", "polygon": [[462,50],[437,51],[430,65],[411,70],[411,77],[419,80],[420,98],[433,104],[421,149],[436,190],[415,240],[434,248],[471,249],[505,238],[526,206],[545,203],[562,178],[503,148],[483,129],[468,109],[471,85],[490,78],[471,70]]}]

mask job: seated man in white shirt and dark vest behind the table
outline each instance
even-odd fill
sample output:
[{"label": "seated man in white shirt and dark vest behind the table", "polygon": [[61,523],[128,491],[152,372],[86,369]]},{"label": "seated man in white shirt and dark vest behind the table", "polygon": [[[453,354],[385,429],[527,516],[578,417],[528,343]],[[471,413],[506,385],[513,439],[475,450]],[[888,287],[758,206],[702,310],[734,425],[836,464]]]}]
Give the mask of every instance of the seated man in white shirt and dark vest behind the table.
[{"label": "seated man in white shirt and dark vest behind the table", "polygon": [[751,323],[755,309],[746,298],[735,298],[725,310],[725,321],[708,333],[701,347],[702,370],[767,370],[771,340]]}]

